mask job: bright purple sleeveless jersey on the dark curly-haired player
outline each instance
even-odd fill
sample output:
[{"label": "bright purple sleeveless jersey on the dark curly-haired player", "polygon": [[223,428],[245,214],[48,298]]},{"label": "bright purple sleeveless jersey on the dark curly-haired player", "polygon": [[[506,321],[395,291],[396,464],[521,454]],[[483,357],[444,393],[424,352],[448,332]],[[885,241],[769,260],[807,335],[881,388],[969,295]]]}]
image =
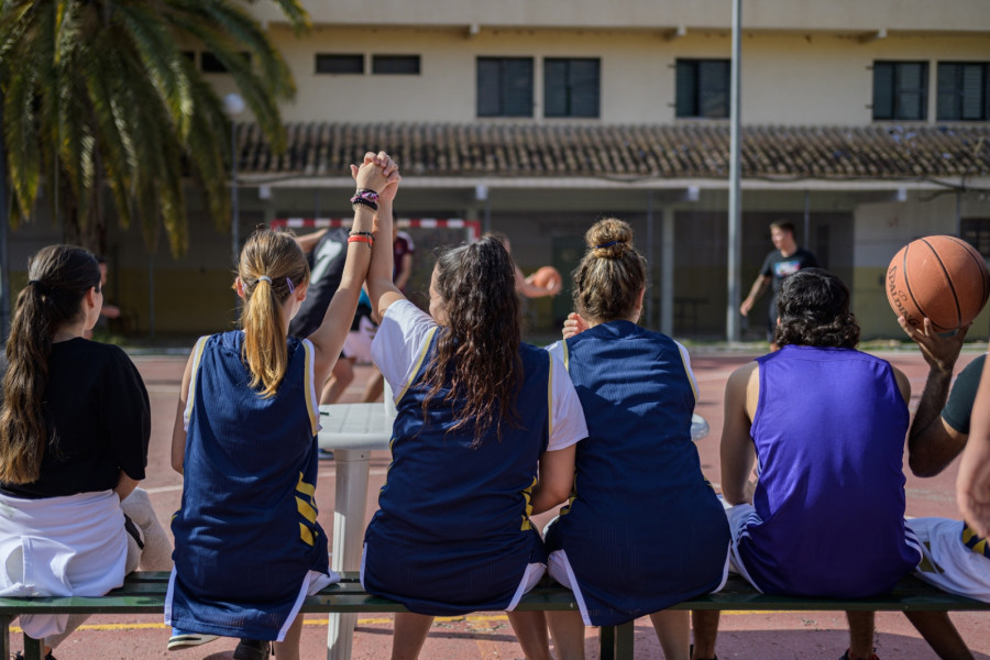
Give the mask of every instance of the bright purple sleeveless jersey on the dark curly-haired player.
[{"label": "bright purple sleeveless jersey on the dark curly-haired player", "polygon": [[755,517],[738,541],[763,592],[857,598],[921,561],[904,527],[908,405],[890,364],[787,345],[758,358]]}]

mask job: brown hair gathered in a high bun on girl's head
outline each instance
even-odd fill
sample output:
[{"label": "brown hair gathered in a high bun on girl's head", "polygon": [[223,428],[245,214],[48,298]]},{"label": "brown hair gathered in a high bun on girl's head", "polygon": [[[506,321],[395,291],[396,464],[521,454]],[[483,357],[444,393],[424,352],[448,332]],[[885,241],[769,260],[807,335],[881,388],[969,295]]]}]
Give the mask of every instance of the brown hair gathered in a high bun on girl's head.
[{"label": "brown hair gathered in a high bun on girl's head", "polygon": [[632,228],[616,218],[584,234],[587,252],[573,272],[578,312],[601,322],[628,318],[646,286],[646,260],[632,246]]}]

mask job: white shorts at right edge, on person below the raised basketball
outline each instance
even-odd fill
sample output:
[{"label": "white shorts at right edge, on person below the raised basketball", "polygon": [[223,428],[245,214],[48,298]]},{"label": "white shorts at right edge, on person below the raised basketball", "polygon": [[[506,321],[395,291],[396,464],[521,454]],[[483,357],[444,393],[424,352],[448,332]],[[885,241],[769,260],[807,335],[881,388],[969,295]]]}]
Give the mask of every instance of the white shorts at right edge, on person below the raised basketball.
[{"label": "white shorts at right edge, on person below the raised basketball", "polygon": [[963,544],[963,522],[949,518],[905,522],[924,552],[914,571],[917,578],[950,594],[990,603],[990,559]]}]

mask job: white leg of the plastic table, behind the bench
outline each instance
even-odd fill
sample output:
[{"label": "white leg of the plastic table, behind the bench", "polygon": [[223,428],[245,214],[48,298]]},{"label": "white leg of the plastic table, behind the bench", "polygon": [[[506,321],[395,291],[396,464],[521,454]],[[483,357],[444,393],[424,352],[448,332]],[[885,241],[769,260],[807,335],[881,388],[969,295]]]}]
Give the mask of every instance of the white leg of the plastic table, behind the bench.
[{"label": "white leg of the plastic table, behind the bench", "polygon": [[[330,568],[334,571],[356,571],[361,568],[370,458],[371,452],[367,450],[333,450],[333,459],[337,463],[337,499],[333,512],[333,556]],[[358,615],[331,613],[329,619],[327,660],[350,660]]]}]

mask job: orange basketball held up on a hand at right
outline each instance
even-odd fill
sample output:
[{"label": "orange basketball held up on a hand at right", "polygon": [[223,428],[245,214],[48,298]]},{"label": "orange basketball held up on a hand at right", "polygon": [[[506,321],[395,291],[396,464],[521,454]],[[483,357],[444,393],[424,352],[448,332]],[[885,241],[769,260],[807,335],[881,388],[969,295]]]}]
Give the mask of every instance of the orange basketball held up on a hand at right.
[{"label": "orange basketball held up on a hand at right", "polygon": [[972,321],[990,294],[982,255],[955,237],[926,237],[908,243],[887,268],[887,299],[913,328],[932,321],[948,332]]}]

